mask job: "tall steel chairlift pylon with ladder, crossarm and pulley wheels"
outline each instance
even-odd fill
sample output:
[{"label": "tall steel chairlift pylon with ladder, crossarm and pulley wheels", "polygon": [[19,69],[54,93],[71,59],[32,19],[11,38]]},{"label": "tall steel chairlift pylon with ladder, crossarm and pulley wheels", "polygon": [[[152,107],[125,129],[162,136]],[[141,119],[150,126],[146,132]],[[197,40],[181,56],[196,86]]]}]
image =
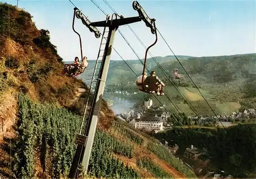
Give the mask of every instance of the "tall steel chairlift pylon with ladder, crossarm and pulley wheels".
[{"label": "tall steel chairlift pylon with ladder, crossarm and pulley wheels", "polygon": [[[137,1],[133,2],[134,10],[138,11],[139,16],[118,18],[116,13],[111,16],[106,16],[106,20],[91,22],[86,16],[84,16],[81,11],[74,8],[74,13],[77,18],[81,19],[82,23],[89,28],[91,32],[94,32],[95,37],[100,37],[100,32],[96,27],[104,27],[102,33],[101,43],[99,47],[98,57],[96,60],[93,79],[90,85],[89,95],[93,95],[93,101],[91,107],[89,107],[89,95],[87,99],[86,109],[90,109],[87,125],[84,127],[84,117],[86,112],[84,112],[81,129],[79,134],[76,135],[76,151],[73,158],[73,162],[70,168],[69,178],[78,177],[78,166],[82,164],[83,169],[87,173],[88,165],[91,156],[91,150],[94,141],[94,135],[96,131],[96,126],[98,122],[98,115],[101,106],[101,100],[104,93],[106,76],[108,74],[110,57],[112,52],[112,46],[114,42],[115,33],[120,25],[130,24],[143,20],[146,26],[151,28],[151,32],[155,34],[156,29],[154,26],[155,19],[151,19],[147,16],[143,8],[139,5]],[[106,31],[108,28],[108,31]],[[106,33],[106,35],[105,35]],[[104,46],[104,47],[103,47]],[[103,47],[103,48],[102,48]]]}]

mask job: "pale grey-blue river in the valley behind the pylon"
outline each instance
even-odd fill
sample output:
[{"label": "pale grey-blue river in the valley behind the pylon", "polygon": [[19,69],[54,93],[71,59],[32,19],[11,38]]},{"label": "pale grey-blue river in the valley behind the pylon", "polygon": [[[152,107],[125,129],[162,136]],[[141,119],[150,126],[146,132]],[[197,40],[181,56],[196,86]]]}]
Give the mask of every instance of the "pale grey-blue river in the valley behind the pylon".
[{"label": "pale grey-blue river in the valley behind the pylon", "polygon": [[134,106],[134,104],[140,101],[138,99],[115,94],[104,94],[103,97],[114,101],[113,106],[110,106],[109,108],[113,110],[115,114],[124,113],[125,111],[128,112],[130,108]]}]

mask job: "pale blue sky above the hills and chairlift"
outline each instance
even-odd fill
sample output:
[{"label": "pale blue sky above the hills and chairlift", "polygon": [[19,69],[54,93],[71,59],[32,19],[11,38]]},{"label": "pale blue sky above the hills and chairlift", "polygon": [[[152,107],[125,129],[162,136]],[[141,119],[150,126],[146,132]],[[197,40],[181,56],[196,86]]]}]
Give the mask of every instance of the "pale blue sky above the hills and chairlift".
[{"label": "pale blue sky above the hills and chairlift", "polygon": [[[16,5],[17,0],[0,0]],[[88,16],[90,21],[105,20],[105,15],[90,0],[73,0],[74,5]],[[256,1],[138,1],[156,25],[175,55],[194,57],[222,56],[256,53]],[[102,1],[96,3],[108,14],[113,11]],[[119,15],[138,16],[133,1],[108,1]],[[80,58],[79,37],[72,30],[74,6],[69,0],[19,0],[19,8],[25,8],[38,29],[50,31],[51,42],[57,46],[63,61]],[[130,24],[145,46],[155,41],[143,21]],[[98,28],[100,32],[103,28]],[[75,30],[81,35],[83,55],[89,60],[97,58],[101,38],[95,38],[80,19],[75,19]],[[141,59],[145,48],[129,27],[119,30],[129,41]],[[173,55],[158,34],[158,41],[150,52],[153,56]],[[124,60],[138,59],[122,36],[117,32],[114,48]],[[151,56],[148,56],[151,57]],[[113,50],[112,60],[121,60]]]}]

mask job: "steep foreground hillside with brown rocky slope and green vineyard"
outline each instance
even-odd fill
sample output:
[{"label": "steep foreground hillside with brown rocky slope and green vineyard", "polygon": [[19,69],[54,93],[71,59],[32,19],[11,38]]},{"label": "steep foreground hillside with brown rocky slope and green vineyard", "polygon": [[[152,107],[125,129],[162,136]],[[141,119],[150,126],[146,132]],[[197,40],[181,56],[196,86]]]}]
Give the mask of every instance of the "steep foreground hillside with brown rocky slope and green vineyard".
[{"label": "steep foreground hillside with brown rocky slope and green vineyard", "polygon": [[[58,75],[63,63],[50,33],[31,18],[0,4],[0,177],[67,178],[88,87]],[[197,178],[158,140],[116,119],[104,100],[88,176]]]}]

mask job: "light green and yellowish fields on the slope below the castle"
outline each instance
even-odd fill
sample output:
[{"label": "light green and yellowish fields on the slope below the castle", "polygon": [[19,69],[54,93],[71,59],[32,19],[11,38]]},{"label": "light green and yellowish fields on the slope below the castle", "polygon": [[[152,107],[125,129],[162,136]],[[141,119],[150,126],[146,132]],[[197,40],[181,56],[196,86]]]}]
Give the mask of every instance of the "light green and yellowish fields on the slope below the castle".
[{"label": "light green and yellowish fields on the slope below the castle", "polygon": [[[199,115],[202,116],[212,116],[215,115],[207,105],[204,98],[201,96],[199,91],[196,88],[191,87],[178,87],[181,94],[186,97],[186,99],[189,101],[191,106],[196,110],[196,112]],[[237,112],[241,105],[237,102],[232,101],[219,101],[214,99],[216,96],[214,94],[210,94],[208,91],[199,89],[200,92],[203,94],[203,96],[206,98],[208,104],[211,106],[211,108],[215,111],[217,115],[230,115],[232,112]],[[173,87],[173,86],[166,86],[164,88],[165,94],[169,97],[169,99],[172,101],[172,103],[175,105],[175,107],[179,110],[179,112],[184,112],[187,115],[195,115],[195,113],[191,110],[188,104],[185,103],[184,99],[181,97],[179,92]],[[141,97],[141,95],[144,95],[144,93],[139,92],[137,94]],[[150,94],[147,94],[145,96],[151,96]],[[170,103],[170,100],[164,96],[157,96],[157,98],[160,100],[162,104],[166,104],[166,109],[172,112],[177,112],[174,105]],[[158,100],[152,96],[153,104],[160,105]]]}]

